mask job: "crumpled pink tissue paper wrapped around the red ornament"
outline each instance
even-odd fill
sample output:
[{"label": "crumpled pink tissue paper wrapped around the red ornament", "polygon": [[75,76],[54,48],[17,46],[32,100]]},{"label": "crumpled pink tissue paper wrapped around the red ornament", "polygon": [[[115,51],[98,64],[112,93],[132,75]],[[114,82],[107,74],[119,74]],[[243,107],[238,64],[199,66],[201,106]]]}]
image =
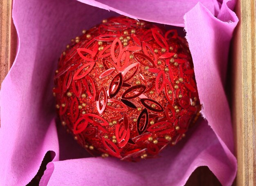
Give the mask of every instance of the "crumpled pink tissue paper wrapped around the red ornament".
[{"label": "crumpled pink tissue paper wrapped around the red ornament", "polygon": [[[224,86],[235,0],[14,0],[15,62],[0,91],[0,185],[26,185],[47,151],[55,155],[45,185],[184,185],[208,166],[222,185],[236,176],[231,116]],[[56,126],[53,76],[71,38],[115,15],[184,27],[202,116],[187,137],[161,157],[138,163],[90,157]]]}]

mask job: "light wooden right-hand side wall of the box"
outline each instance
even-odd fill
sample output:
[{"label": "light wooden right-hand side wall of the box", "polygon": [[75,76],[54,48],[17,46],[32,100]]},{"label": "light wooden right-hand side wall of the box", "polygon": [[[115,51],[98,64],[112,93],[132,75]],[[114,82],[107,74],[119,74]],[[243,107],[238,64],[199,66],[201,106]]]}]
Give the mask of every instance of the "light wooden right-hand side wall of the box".
[{"label": "light wooden right-hand side wall of the box", "polygon": [[240,20],[232,43],[232,119],[237,186],[256,185],[256,1],[238,0]]}]

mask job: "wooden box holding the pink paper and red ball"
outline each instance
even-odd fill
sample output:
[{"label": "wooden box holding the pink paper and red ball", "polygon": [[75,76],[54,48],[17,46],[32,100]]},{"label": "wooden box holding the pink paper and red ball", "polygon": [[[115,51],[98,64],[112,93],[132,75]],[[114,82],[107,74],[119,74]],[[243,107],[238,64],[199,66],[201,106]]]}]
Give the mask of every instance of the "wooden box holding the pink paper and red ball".
[{"label": "wooden box holding the pink paper and red ball", "polygon": [[[0,82],[16,55],[12,0],[0,2]],[[227,95],[232,112],[238,173],[234,185],[256,185],[256,0],[237,0],[238,26],[231,42]],[[199,167],[186,185],[220,185],[207,167]]]}]

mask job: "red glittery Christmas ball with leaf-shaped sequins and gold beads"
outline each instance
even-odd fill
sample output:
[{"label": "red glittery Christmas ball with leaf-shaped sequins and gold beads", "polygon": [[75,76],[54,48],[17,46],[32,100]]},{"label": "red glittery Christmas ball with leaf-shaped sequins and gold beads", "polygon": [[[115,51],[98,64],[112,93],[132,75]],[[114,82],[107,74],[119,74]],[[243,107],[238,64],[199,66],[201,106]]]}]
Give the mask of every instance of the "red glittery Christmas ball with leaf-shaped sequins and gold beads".
[{"label": "red glittery Christmas ball with leaf-shaped sequins and gold beads", "polygon": [[138,161],[184,137],[200,110],[186,40],[124,16],[83,33],[62,53],[53,89],[75,140],[93,155]]}]

